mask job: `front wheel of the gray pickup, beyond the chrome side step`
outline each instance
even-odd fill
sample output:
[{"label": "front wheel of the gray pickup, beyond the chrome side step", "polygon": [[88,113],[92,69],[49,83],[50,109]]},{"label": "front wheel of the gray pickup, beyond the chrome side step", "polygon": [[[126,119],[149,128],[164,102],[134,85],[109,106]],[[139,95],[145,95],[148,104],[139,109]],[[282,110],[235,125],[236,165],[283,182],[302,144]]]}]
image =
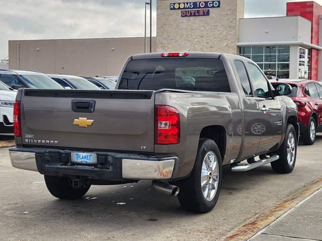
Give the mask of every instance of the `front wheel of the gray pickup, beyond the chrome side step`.
[{"label": "front wheel of the gray pickup, beyond the chrome side step", "polygon": [[288,124],[282,146],[276,152],[280,158],[277,161],[271,162],[273,171],[278,173],[292,172],[295,166],[296,152],[296,132],[294,127],[291,124]]}]

